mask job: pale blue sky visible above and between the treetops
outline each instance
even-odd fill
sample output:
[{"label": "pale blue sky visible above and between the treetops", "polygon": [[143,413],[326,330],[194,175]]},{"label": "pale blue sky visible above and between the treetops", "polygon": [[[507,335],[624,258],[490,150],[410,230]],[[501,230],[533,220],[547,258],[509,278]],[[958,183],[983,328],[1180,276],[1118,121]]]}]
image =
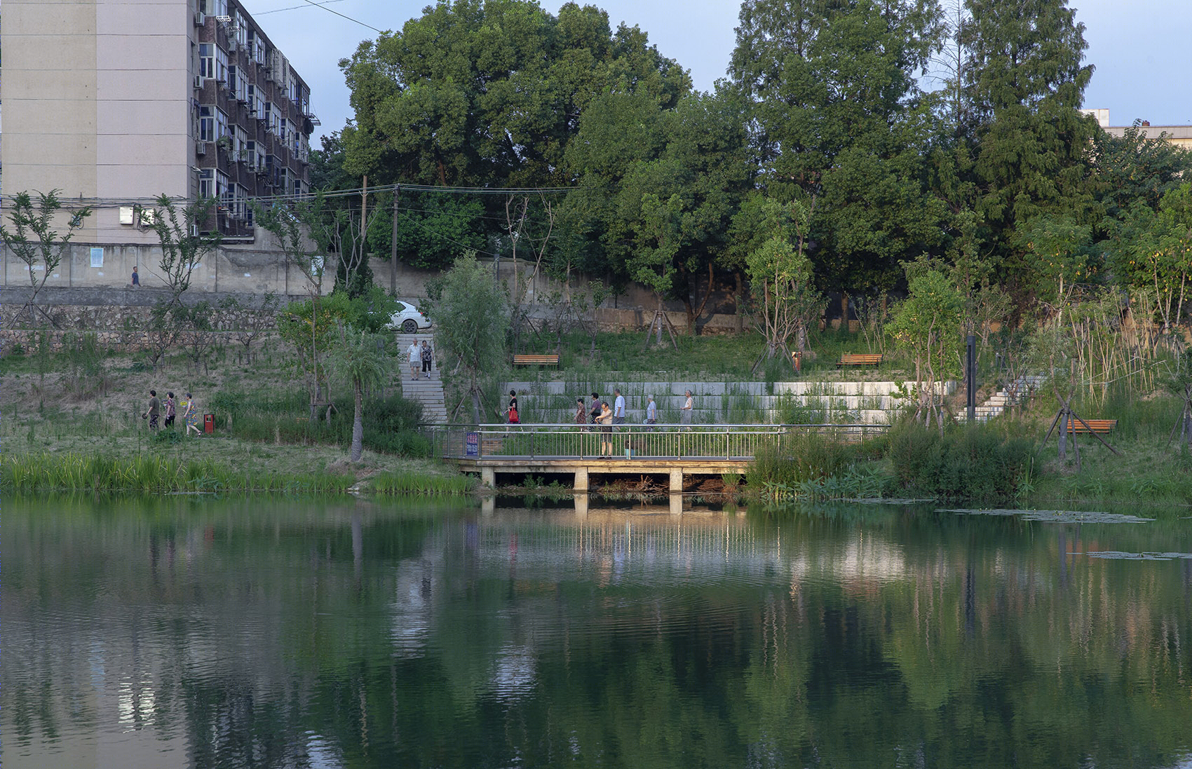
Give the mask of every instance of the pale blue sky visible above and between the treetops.
[{"label": "pale blue sky visible above and between the treetops", "polygon": [[[430,0],[331,0],[325,7],[311,2],[244,0],[244,6],[310,86],[311,106],[322,123],[316,132],[322,135],[352,117],[339,61],[350,57],[361,41],[377,37],[368,26],[399,30],[422,15]],[[563,2],[540,0],[551,13]],[[608,12],[614,29],[620,21],[641,27],[664,56],[691,73],[696,88],[710,91],[725,76],[738,1],[589,2]],[[1192,74],[1186,54],[1180,54],[1192,39],[1190,0],[1072,0],[1069,6],[1085,25],[1086,63],[1095,67],[1084,106],[1109,108],[1111,125],[1130,125],[1135,118],[1151,125],[1192,125]]]}]

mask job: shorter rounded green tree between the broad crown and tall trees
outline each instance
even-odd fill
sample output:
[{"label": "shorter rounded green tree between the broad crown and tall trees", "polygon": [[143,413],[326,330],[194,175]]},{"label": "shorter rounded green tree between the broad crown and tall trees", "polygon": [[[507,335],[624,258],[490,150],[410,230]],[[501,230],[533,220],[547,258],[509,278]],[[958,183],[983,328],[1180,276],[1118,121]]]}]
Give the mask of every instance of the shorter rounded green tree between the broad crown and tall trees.
[{"label": "shorter rounded green tree between the broad crown and tall trees", "polygon": [[665,110],[609,94],[581,122],[567,154],[582,172],[569,212],[583,212],[606,278],[635,280],[687,306],[688,331],[725,269],[732,217],[752,179],[745,112],[731,92]]}]

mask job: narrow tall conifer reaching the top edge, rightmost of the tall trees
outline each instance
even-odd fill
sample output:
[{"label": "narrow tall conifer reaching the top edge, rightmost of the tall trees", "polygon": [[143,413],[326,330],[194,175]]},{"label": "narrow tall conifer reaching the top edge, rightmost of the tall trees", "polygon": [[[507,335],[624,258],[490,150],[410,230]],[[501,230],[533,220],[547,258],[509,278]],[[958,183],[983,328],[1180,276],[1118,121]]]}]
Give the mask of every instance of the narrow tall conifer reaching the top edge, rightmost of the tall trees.
[{"label": "narrow tall conifer reaching the top edge, rightmost of the tall trees", "polygon": [[973,182],[971,205],[987,231],[999,278],[1019,298],[1033,285],[1014,230],[1036,216],[1064,215],[1093,224],[1088,184],[1095,120],[1080,114],[1093,68],[1084,64],[1084,24],[1067,0],[968,0],[962,27],[962,126]]}]

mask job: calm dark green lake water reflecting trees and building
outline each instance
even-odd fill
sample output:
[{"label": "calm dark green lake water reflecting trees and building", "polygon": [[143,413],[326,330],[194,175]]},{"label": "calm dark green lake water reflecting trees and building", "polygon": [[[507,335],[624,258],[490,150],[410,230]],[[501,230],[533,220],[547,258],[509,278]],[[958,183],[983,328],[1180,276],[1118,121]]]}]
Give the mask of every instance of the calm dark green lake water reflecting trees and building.
[{"label": "calm dark green lake water reflecting trees and building", "polygon": [[1192,767],[1186,513],[2,514],[5,769]]}]

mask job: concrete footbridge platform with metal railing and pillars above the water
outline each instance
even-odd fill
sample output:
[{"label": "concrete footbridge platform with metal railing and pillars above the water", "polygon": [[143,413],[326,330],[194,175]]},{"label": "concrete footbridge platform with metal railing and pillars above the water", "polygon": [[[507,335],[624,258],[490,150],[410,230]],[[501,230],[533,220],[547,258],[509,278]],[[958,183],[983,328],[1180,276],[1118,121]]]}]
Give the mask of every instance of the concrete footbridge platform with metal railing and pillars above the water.
[{"label": "concrete footbridge platform with metal railing and pillars above the water", "polygon": [[793,451],[808,433],[831,440],[863,441],[884,424],[471,424],[423,426],[436,457],[464,472],[479,472],[485,485],[497,473],[565,473],[576,491],[590,475],[664,476],[682,491],[688,476],[744,473],[759,449]]}]

